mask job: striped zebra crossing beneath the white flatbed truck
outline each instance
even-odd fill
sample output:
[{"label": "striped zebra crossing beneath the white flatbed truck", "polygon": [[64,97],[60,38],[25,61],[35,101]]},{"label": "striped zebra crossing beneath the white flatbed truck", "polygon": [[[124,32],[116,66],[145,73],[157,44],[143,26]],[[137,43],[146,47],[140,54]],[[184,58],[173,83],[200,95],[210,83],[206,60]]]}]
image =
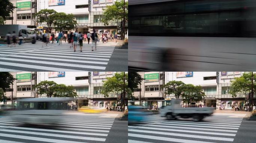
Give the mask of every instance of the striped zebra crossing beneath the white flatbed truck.
[{"label": "striped zebra crossing beneath the white flatbed truck", "polygon": [[128,143],[232,143],[242,121],[243,117],[228,115],[213,115],[200,122],[150,115],[128,126]]}]

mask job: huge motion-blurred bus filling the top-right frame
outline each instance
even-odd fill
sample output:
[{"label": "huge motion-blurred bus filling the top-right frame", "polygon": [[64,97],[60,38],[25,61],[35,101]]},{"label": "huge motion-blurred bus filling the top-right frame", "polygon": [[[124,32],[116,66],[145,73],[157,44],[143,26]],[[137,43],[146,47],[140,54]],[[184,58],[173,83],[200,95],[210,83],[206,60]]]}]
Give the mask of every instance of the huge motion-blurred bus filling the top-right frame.
[{"label": "huge motion-blurred bus filling the top-right frame", "polygon": [[128,68],[256,70],[256,0],[129,0]]}]

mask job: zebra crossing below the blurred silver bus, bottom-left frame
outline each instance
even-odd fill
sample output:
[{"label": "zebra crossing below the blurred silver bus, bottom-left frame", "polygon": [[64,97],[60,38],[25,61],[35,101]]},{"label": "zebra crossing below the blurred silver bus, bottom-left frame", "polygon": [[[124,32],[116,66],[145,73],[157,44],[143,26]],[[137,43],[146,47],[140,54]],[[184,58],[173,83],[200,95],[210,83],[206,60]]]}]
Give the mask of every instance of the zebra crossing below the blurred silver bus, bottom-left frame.
[{"label": "zebra crossing below the blurred silver bus, bottom-left frame", "polygon": [[29,125],[0,117],[0,143],[103,143],[115,118],[66,115],[56,124]]}]

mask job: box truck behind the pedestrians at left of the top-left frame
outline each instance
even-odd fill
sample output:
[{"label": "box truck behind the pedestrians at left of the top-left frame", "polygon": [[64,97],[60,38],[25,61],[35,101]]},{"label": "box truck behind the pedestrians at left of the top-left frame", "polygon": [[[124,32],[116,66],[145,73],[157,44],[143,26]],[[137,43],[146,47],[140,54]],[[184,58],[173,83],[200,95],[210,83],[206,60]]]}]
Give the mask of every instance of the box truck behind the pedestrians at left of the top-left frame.
[{"label": "box truck behind the pedestrians at left of the top-left frame", "polygon": [[0,37],[5,37],[8,32],[12,34],[15,31],[16,36],[19,34],[24,38],[28,38],[28,30],[26,25],[0,25]]}]

